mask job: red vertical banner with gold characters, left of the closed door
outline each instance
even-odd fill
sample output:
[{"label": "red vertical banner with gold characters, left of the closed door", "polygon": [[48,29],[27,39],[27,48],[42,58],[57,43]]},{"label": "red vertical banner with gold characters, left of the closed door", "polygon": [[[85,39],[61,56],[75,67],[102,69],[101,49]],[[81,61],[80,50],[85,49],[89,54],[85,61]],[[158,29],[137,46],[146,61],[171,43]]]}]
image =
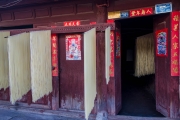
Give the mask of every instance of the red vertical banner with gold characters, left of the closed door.
[{"label": "red vertical banner with gold characters, left of the closed door", "polygon": [[56,34],[51,35],[51,61],[54,69],[52,70],[52,76],[58,76],[58,49],[57,49],[58,37]]}]

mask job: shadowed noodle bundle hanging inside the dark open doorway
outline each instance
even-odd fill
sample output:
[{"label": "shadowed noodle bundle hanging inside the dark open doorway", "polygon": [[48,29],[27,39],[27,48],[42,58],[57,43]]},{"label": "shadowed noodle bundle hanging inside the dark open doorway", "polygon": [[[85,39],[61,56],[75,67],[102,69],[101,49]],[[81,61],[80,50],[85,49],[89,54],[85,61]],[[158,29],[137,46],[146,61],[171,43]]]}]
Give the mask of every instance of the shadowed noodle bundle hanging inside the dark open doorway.
[{"label": "shadowed noodle bundle hanging inside the dark open doorway", "polygon": [[155,73],[153,34],[140,36],[136,40],[135,76]]}]

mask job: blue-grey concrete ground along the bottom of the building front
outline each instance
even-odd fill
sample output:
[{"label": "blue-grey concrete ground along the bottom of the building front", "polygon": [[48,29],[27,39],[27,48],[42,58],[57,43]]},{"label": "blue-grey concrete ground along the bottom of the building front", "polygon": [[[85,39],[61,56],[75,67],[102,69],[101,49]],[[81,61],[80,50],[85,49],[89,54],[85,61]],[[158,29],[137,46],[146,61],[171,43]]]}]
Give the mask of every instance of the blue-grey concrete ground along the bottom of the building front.
[{"label": "blue-grey concrete ground along the bottom of the building front", "polygon": [[[85,120],[83,118],[68,118],[57,115],[44,115],[16,110],[0,109],[0,120]],[[94,120],[94,119],[89,119]],[[132,117],[132,116],[109,116],[109,120],[173,120],[169,118],[155,117]]]}]

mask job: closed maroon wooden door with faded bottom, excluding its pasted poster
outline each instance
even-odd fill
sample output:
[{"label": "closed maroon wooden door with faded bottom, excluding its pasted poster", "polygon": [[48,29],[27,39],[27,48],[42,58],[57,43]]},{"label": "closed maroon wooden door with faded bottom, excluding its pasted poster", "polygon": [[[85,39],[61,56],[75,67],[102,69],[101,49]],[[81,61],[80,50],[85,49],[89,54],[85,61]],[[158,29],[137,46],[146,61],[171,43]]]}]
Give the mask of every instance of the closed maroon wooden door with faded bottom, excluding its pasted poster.
[{"label": "closed maroon wooden door with faded bottom, excluding its pasted poster", "polygon": [[60,108],[84,110],[83,36],[81,36],[81,60],[66,60],[65,35],[67,34],[59,36]]}]

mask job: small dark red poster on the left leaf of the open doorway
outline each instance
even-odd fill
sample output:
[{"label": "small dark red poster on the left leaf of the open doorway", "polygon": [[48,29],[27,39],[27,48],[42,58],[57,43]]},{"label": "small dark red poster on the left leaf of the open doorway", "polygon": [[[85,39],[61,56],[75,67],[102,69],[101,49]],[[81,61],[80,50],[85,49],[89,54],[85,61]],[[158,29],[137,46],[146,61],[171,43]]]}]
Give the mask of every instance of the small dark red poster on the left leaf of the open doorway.
[{"label": "small dark red poster on the left leaf of the open doorway", "polygon": [[120,58],[121,55],[121,41],[120,34],[116,32],[116,58]]}]

